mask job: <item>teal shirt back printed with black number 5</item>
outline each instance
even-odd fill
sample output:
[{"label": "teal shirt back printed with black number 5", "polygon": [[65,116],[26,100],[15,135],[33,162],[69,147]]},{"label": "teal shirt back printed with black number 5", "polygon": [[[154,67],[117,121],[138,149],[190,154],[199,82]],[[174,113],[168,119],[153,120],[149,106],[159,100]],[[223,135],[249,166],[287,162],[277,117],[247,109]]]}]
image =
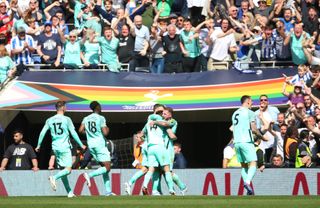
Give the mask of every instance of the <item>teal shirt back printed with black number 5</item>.
[{"label": "teal shirt back printed with black number 5", "polygon": [[241,107],[232,115],[234,143],[253,142],[251,122],[254,121],[254,112]]}]

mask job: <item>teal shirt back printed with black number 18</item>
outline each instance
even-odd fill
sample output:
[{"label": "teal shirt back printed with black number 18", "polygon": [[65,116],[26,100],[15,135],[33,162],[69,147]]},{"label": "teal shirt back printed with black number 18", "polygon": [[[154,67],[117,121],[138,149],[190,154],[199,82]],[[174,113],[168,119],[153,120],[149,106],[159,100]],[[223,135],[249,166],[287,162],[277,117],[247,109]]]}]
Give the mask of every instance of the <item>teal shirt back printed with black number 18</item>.
[{"label": "teal shirt back printed with black number 18", "polygon": [[90,148],[105,146],[102,128],[107,126],[106,119],[97,113],[92,113],[86,116],[82,123],[85,126],[88,146]]}]

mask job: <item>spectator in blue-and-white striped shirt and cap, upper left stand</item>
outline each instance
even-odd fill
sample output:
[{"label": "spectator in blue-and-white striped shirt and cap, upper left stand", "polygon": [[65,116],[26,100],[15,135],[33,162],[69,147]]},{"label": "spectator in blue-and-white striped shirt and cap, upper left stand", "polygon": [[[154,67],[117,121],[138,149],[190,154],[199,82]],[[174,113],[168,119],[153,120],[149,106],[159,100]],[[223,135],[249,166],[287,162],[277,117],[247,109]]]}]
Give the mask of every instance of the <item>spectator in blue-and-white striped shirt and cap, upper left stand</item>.
[{"label": "spectator in blue-and-white striped shirt and cap, upper left stand", "polygon": [[34,40],[26,34],[24,27],[17,29],[17,35],[11,40],[11,54],[17,65],[33,64],[32,53],[35,51]]}]

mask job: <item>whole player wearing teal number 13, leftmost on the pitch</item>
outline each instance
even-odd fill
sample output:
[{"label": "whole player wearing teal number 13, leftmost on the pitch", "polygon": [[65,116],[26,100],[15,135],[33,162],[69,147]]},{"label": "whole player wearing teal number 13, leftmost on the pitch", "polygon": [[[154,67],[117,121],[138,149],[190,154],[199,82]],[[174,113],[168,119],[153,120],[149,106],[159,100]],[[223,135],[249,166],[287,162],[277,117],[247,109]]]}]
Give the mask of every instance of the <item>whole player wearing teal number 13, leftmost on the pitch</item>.
[{"label": "whole player wearing teal number 13, leftmost on the pitch", "polygon": [[71,173],[72,167],[70,133],[73,139],[80,147],[82,147],[82,149],[86,149],[86,146],[82,144],[77,132],[74,130],[71,119],[64,115],[66,111],[66,103],[64,101],[58,101],[56,103],[56,110],[57,114],[47,119],[46,124],[42,128],[36,151],[39,152],[43,138],[46,132],[50,129],[52,137],[52,150],[56,156],[57,164],[60,167],[64,167],[63,170],[59,171],[54,176],[49,177],[50,185],[52,189],[56,191],[56,180],[61,178],[68,193],[68,197],[74,197],[75,195],[70,188],[67,178],[67,176]]}]

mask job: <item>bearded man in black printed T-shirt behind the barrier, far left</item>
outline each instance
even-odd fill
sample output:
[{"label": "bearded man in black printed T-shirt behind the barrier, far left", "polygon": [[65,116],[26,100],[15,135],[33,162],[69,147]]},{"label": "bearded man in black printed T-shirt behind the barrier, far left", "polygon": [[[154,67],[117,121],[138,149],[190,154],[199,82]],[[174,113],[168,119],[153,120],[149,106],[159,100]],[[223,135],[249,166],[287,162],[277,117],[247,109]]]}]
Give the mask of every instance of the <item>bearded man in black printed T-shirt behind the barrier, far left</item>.
[{"label": "bearded man in black printed T-shirt behind the barrier, far left", "polygon": [[30,144],[23,141],[23,132],[13,132],[14,143],[8,147],[1,162],[0,171],[8,170],[39,170],[37,156]]}]

